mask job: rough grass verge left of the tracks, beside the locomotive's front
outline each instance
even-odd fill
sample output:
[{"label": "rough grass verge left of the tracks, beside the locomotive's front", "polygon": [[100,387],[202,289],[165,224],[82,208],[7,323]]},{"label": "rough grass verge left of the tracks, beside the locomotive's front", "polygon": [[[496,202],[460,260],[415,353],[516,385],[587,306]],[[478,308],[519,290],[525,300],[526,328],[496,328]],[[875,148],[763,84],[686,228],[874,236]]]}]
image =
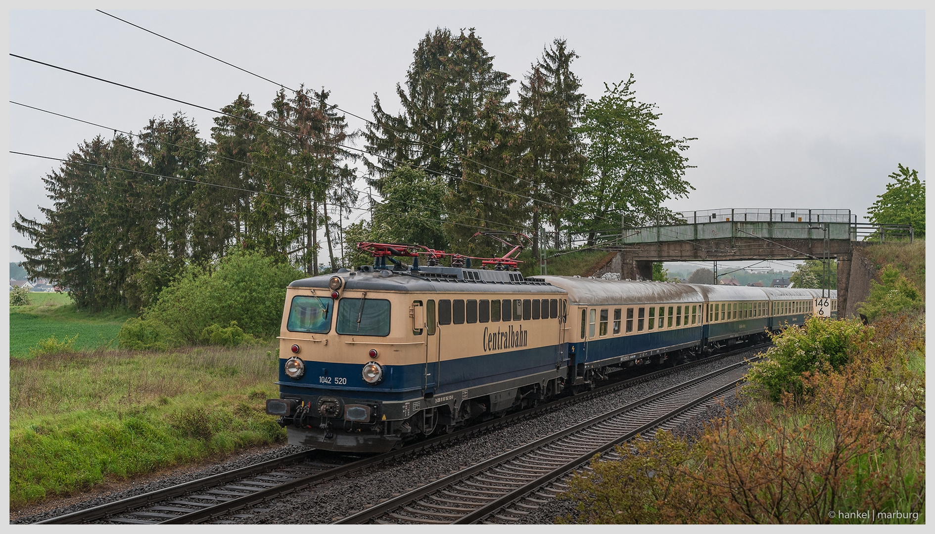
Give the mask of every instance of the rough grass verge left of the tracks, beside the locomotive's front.
[{"label": "rough grass verge left of the tracks, beside the locomotive's front", "polygon": [[273,344],[10,359],[10,506],[280,442]]}]

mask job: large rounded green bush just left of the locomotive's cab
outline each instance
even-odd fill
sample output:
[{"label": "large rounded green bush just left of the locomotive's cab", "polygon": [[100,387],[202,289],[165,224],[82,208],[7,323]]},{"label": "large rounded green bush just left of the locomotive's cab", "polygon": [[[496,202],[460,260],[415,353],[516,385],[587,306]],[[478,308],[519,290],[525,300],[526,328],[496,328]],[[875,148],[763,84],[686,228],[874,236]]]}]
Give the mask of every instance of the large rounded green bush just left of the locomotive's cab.
[{"label": "large rounded green bush just left of the locomotive's cab", "polygon": [[166,325],[188,343],[202,342],[211,325],[232,321],[245,334],[275,336],[286,286],[303,276],[295,267],[259,253],[230,253],[213,270],[188,267],[143,317]]}]

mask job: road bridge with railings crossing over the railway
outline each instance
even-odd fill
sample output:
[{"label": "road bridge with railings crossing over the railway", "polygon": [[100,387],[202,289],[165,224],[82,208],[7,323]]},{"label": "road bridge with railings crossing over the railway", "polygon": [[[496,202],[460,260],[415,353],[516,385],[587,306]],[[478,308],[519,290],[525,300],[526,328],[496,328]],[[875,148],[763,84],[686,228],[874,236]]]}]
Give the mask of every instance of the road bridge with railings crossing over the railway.
[{"label": "road bridge with railings crossing over the railway", "polygon": [[913,238],[910,226],[857,223],[850,209],[706,209],[679,216],[684,223],[624,228],[611,247],[619,251],[622,280],[652,279],[659,261],[836,259],[839,310],[854,315],[873,274],[859,252],[866,239]]}]

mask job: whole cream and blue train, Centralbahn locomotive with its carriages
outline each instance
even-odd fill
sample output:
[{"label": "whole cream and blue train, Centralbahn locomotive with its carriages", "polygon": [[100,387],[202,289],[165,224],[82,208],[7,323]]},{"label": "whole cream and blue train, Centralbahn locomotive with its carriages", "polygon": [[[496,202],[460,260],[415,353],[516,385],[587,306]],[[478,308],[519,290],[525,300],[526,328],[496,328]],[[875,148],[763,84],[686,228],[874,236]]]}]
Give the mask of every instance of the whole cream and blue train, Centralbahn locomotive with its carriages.
[{"label": "whole cream and blue train, Centralbahn locomotive with its carriages", "polygon": [[524,278],[506,256],[483,262],[496,268],[460,258],[420,266],[403,247],[375,249],[375,266],[289,285],[280,397],[266,413],[290,444],[385,452],[582,392],[613,371],[704,357],[813,311],[837,314],[835,291]]}]

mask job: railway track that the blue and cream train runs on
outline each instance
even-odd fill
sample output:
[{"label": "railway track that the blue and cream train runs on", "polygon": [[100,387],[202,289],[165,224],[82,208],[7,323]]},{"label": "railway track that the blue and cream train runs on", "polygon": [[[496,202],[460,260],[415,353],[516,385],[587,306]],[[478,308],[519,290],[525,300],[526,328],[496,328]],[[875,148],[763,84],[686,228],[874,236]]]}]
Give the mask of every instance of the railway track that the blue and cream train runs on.
[{"label": "railway track that the blue and cream train runs on", "polygon": [[[636,383],[648,382],[672,372],[697,367],[698,365],[765,346],[767,345],[743,347],[725,354],[688,362],[681,366],[663,368],[626,380],[611,382],[574,397],[559,398],[535,408],[469,426],[452,434],[418,441],[402,449],[382,455],[357,459],[309,450],[247,468],[235,469],[189,483],[155,490],[132,498],[124,498],[87,510],[52,517],[36,524],[194,524],[208,521],[216,522],[222,517],[231,521],[222,519],[220,522],[232,522],[240,518],[238,515],[230,515],[232,512],[256,506],[271,498],[350,475],[362,469],[369,469],[400,457],[414,455],[442,443],[468,438],[493,428],[510,425],[516,421],[546,411],[553,411],[562,406],[606,395]],[[253,511],[261,512],[262,509],[254,508]]]}]

